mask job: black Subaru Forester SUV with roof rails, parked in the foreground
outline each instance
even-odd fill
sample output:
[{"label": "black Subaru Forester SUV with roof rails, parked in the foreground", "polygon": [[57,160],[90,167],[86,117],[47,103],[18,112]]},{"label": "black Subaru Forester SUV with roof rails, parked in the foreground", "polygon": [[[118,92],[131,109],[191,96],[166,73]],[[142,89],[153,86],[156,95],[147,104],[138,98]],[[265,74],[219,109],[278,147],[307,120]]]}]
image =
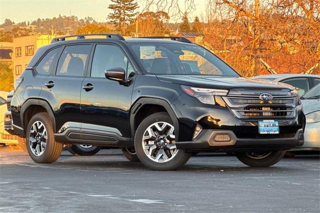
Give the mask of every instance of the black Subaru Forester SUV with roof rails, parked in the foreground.
[{"label": "black Subaru Forester SUV with roof rails, parked in the foreground", "polygon": [[303,144],[305,116],[287,84],[241,77],[183,37],[69,37],[37,50],[9,104],[35,162],[55,161],[63,144],[88,144],[121,147],[159,170],[198,151],[270,166]]}]

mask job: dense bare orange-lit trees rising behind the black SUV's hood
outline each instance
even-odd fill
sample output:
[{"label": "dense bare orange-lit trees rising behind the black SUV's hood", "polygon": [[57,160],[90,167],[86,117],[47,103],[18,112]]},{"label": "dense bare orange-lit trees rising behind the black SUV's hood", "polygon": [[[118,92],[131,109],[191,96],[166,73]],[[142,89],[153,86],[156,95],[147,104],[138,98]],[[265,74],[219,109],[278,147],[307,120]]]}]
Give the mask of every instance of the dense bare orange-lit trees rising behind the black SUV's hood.
[{"label": "dense bare orange-lit trees rising behind the black SUV's hood", "polygon": [[203,44],[243,75],[317,72],[317,0],[208,0]]}]

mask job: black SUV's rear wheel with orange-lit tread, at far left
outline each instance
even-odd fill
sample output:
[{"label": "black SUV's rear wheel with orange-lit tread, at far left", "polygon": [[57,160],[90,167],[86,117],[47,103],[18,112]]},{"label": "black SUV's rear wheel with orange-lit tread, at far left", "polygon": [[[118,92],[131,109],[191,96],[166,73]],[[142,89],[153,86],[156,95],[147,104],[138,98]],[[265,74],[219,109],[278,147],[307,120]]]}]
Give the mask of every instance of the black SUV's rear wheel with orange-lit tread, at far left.
[{"label": "black SUV's rear wheel with orange-lit tread, at far left", "polygon": [[30,119],[26,147],[34,162],[51,163],[60,156],[63,144],[54,140],[52,123],[46,112],[36,113]]}]

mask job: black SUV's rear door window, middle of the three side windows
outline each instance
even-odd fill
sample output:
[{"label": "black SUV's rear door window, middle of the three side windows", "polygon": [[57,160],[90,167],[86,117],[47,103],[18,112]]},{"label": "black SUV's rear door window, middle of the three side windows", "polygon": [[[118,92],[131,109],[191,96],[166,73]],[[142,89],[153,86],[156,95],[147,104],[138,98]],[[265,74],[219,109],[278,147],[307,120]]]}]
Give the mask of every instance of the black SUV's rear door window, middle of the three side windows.
[{"label": "black SUV's rear door window, middle of the three side windows", "polygon": [[90,51],[91,44],[66,46],[59,58],[55,74],[83,76]]}]

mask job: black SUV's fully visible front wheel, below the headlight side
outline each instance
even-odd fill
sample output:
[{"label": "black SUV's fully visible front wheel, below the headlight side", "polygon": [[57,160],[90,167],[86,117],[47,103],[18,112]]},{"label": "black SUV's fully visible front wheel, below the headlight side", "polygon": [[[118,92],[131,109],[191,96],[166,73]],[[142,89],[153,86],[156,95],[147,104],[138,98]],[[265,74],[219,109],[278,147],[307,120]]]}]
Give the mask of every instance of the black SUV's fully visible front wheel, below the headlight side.
[{"label": "black SUV's fully visible front wheel, below the headlight side", "polygon": [[134,136],[134,148],[143,165],[154,170],[173,170],[184,165],[191,156],[175,146],[174,127],[166,112],[144,118]]}]

